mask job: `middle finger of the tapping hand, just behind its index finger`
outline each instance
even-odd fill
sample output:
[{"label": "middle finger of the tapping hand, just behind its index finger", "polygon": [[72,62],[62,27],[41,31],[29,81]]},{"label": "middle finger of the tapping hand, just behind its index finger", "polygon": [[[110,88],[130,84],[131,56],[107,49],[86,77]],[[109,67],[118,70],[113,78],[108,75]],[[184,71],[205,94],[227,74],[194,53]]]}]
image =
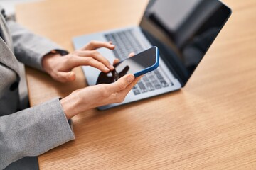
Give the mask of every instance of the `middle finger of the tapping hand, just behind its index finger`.
[{"label": "middle finger of the tapping hand, just behind its index finger", "polygon": [[95,60],[101,62],[102,64],[105,65],[110,70],[114,69],[114,66],[110,64],[109,60],[107,60],[105,57],[103,57],[100,52],[97,52],[95,50],[90,50],[90,51],[78,51],[76,52],[75,55],[78,55],[78,57],[92,57]]}]

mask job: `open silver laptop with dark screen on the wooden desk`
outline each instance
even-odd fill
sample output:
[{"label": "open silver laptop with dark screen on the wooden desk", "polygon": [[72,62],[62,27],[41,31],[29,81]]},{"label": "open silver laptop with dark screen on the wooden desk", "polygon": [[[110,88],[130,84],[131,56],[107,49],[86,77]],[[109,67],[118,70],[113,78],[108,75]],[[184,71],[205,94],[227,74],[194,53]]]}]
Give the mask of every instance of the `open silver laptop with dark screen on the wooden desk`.
[{"label": "open silver laptop with dark screen on the wooden desk", "polygon": [[[130,52],[139,53],[152,46],[159,47],[159,68],[144,74],[122,103],[99,109],[181,89],[230,15],[230,8],[218,0],[151,0],[139,26],[73,38],[76,50],[91,40],[112,41],[116,46],[114,50],[98,50],[110,62],[115,58],[124,60]],[[88,85],[95,85],[100,71],[88,66],[83,66],[82,70]]]}]

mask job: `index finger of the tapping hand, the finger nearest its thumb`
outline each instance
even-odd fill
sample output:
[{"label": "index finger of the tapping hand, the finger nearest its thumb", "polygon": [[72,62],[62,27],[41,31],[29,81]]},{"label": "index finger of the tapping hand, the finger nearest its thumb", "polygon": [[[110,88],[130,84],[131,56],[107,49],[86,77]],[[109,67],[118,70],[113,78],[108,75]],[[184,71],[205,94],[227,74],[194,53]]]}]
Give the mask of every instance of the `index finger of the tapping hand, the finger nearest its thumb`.
[{"label": "index finger of the tapping hand, the finger nearest its thumb", "polygon": [[110,69],[107,68],[105,64],[102,64],[102,62],[99,62],[92,57],[73,56],[72,58],[70,58],[69,64],[72,65],[70,67],[73,67],[73,68],[82,66],[82,65],[89,65],[91,67],[100,69],[100,71],[102,72],[110,72]]}]

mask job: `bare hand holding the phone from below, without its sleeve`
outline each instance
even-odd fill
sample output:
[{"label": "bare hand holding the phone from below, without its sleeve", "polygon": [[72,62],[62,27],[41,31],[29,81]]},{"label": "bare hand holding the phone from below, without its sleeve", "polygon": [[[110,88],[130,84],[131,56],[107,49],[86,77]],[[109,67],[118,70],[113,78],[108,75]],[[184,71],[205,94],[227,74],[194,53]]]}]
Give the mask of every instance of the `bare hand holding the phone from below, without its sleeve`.
[{"label": "bare hand holding the phone from below, without its sleeve", "polygon": [[112,84],[99,84],[73,91],[72,94],[63,98],[60,103],[66,117],[70,119],[91,108],[111,103],[121,103],[139,79],[140,77],[134,78],[133,74],[127,74]]}]

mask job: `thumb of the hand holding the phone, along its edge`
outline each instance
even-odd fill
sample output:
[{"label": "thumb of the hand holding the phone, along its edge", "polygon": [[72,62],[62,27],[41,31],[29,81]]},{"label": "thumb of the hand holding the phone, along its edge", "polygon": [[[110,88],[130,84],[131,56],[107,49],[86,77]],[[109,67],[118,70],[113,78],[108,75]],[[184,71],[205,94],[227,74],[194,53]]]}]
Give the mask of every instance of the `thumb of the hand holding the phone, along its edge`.
[{"label": "thumb of the hand holding the phone, along its edge", "polygon": [[121,77],[114,83],[110,84],[111,89],[113,89],[112,92],[123,91],[132,83],[132,81],[134,81],[134,79],[134,74],[127,74],[124,77]]}]

